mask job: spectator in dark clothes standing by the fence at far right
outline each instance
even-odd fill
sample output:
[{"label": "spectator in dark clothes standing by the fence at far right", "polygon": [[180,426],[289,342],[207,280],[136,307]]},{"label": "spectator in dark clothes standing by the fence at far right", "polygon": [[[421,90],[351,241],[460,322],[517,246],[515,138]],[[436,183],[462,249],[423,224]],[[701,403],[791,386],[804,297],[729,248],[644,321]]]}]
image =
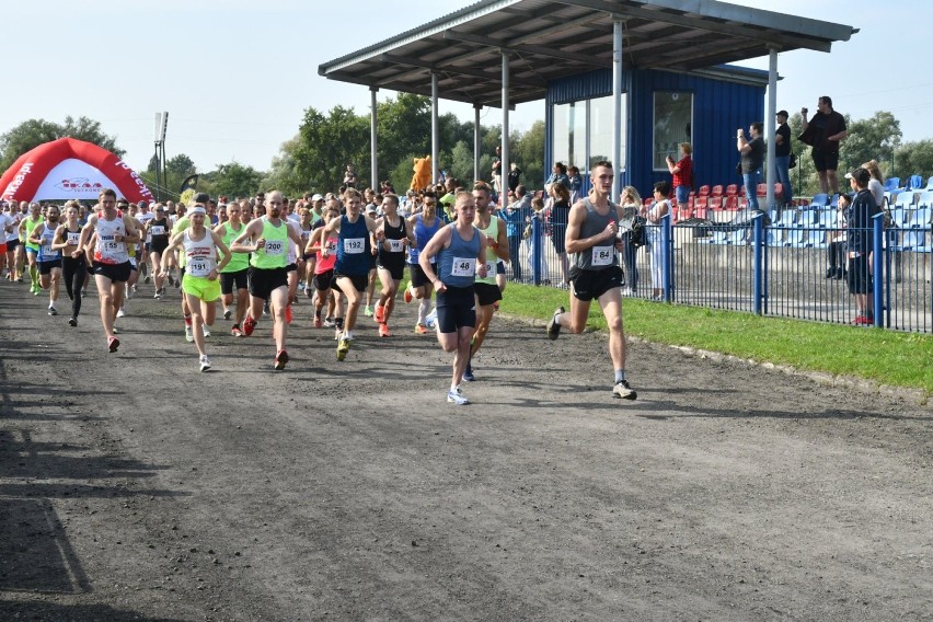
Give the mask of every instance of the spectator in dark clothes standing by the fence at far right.
[{"label": "spectator in dark clothes standing by the fence at far right", "polygon": [[849,208],[849,293],[855,296],[855,320],[853,324],[871,326],[875,323],[872,310],[872,257],[873,218],[879,214],[875,197],[868,191],[872,174],[867,169],[855,169],[845,174],[845,178],[856,192],[855,199]]}]

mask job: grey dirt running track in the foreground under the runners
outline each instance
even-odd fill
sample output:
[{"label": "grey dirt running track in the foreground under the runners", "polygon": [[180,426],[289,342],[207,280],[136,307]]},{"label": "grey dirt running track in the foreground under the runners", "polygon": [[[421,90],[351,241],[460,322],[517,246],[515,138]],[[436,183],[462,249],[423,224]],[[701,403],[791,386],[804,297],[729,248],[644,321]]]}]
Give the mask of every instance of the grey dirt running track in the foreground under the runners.
[{"label": "grey dirt running track in the foreground under the runners", "polygon": [[285,373],[219,321],[198,373],[175,291],[107,355],[95,299],[25,288],[0,620],[933,619],[930,407],[642,343],[621,403],[603,337],[503,318],[454,407],[404,304],[344,364],[306,322]]}]

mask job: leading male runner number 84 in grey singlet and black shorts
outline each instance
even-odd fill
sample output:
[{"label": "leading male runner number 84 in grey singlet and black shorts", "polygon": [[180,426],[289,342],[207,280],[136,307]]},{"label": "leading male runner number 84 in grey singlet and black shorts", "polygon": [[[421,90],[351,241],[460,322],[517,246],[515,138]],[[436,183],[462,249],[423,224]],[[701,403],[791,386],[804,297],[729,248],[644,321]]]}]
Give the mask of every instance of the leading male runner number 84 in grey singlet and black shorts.
[{"label": "leading male runner number 84 in grey singlet and black shorts", "polygon": [[625,332],[622,326],[622,268],[615,261],[621,242],[615,237],[622,208],[613,204],[612,164],[597,162],[592,168],[592,188],[589,195],[574,204],[567,223],[566,251],[574,254],[569,274],[571,312],[558,307],[548,322],[548,337],[556,339],[563,326],[571,333],[586,327],[589,307],[599,301],[609,325],[609,356],[615,370],[612,396],[623,400],[637,398],[625,379]]}]

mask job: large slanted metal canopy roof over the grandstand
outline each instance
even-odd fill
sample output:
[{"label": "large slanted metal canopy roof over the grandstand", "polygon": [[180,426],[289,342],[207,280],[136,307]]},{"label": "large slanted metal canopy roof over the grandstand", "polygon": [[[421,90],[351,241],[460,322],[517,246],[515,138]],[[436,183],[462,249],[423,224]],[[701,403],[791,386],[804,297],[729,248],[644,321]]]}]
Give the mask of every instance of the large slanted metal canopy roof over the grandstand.
[{"label": "large slanted metal canopy roof over the grandstand", "polygon": [[[851,26],[714,0],[481,0],[343,56],[321,76],[441,99],[502,103],[502,54],[509,55],[509,101],[541,100],[548,82],[612,67],[612,24],[623,21],[627,69],[710,70],[771,49],[829,51]],[[742,78],[739,78],[742,79]],[[746,80],[762,78],[745,73]]]}]

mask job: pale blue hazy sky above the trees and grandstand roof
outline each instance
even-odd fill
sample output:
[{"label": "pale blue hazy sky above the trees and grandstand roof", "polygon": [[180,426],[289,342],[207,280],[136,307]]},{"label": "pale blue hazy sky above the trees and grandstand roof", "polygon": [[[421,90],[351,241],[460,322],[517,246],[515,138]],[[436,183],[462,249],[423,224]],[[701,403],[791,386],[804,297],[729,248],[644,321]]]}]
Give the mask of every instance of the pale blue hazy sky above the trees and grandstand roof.
[{"label": "pale blue hazy sky above the trees and grandstand roof", "polygon": [[[265,171],[298,133],[304,111],[335,105],[368,114],[366,87],[326,80],[318,66],[471,2],[457,0],[33,0],[4,7],[9,28],[24,33],[8,56],[0,134],[30,118],[64,123],[88,116],[117,138],[125,160],[145,170],[154,152],[154,116],[169,112],[165,153],[188,156],[198,171],[239,162]],[[837,111],[867,118],[889,111],[902,141],[933,138],[933,78],[923,36],[925,0],[736,1],[860,28],[830,54],[780,54],[778,108],[816,108],[830,95]],[[404,10],[400,8],[404,7]],[[857,7],[857,10],[854,8]],[[917,18],[914,36],[910,15]],[[18,30],[16,24],[27,24]],[[905,28],[903,24],[908,24]],[[28,33],[27,35],[25,33]],[[687,51],[689,54],[689,50]],[[768,58],[740,65],[768,69]],[[379,100],[393,96],[380,91]],[[439,103],[440,113],[473,119],[472,106]],[[512,130],[544,118],[544,103],[517,106]],[[484,108],[482,124],[502,123]]]}]

